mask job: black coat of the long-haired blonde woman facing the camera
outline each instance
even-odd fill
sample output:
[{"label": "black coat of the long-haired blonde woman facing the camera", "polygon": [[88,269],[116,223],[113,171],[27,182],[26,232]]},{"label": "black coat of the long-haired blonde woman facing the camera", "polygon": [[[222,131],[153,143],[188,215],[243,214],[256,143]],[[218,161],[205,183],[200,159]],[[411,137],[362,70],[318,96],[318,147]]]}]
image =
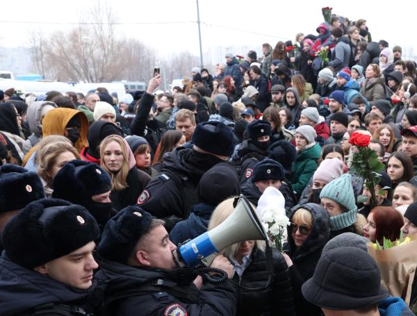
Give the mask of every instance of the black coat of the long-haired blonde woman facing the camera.
[{"label": "black coat of the long-haired blonde woman facing the camera", "polygon": [[110,199],[113,207],[116,210],[122,210],[126,206],[136,205],[140,193],[142,193],[150,181],[151,176],[149,174],[134,166],[127,174],[127,188],[120,191],[111,191]]}]

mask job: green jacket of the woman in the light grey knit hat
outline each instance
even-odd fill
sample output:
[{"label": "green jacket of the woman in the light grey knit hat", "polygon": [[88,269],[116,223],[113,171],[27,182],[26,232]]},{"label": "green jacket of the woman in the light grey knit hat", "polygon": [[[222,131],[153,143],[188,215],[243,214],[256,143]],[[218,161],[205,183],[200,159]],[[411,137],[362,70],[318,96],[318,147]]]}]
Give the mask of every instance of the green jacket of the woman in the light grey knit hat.
[{"label": "green jacket of the woman in the light grey knit hat", "polygon": [[321,147],[316,142],[313,147],[300,151],[297,158],[295,158],[293,163],[292,183],[293,190],[296,192],[297,197],[300,197],[300,194],[316,171],[320,155]]}]

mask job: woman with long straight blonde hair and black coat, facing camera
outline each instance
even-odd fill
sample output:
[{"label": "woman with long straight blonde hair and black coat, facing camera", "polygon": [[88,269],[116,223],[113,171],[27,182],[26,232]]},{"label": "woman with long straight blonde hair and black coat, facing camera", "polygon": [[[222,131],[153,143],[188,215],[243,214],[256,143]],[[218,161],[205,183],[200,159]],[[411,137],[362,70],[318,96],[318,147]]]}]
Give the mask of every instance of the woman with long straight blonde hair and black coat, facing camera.
[{"label": "woman with long straight blonde hair and black coat, facing camera", "polygon": [[151,177],[136,168],[129,144],[119,135],[109,135],[100,144],[100,165],[111,176],[111,201],[116,210],[135,205]]}]

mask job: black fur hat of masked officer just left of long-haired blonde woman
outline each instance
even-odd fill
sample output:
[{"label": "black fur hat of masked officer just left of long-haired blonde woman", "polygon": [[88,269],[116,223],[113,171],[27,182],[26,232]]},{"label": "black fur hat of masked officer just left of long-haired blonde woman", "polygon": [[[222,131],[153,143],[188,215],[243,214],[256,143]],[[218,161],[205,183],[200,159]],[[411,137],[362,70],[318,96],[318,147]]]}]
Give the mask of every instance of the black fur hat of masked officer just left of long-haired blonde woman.
[{"label": "black fur hat of masked officer just left of long-haired blonde woman", "polygon": [[83,204],[93,195],[111,190],[111,178],[95,163],[71,160],[54,178],[52,197]]}]

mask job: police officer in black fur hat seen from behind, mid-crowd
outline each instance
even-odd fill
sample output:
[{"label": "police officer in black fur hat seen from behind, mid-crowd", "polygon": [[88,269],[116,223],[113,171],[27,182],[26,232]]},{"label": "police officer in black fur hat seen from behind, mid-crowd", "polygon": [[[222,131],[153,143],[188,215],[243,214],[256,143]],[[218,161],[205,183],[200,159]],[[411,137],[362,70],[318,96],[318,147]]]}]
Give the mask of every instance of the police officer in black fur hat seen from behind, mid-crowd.
[{"label": "police officer in black fur hat seen from behind, mid-crowd", "polygon": [[220,122],[198,124],[192,142],[192,149],[179,147],[165,154],[161,173],[138,198],[144,210],[165,219],[168,231],[199,202],[196,190],[204,172],[227,161],[234,151],[234,134]]}]

